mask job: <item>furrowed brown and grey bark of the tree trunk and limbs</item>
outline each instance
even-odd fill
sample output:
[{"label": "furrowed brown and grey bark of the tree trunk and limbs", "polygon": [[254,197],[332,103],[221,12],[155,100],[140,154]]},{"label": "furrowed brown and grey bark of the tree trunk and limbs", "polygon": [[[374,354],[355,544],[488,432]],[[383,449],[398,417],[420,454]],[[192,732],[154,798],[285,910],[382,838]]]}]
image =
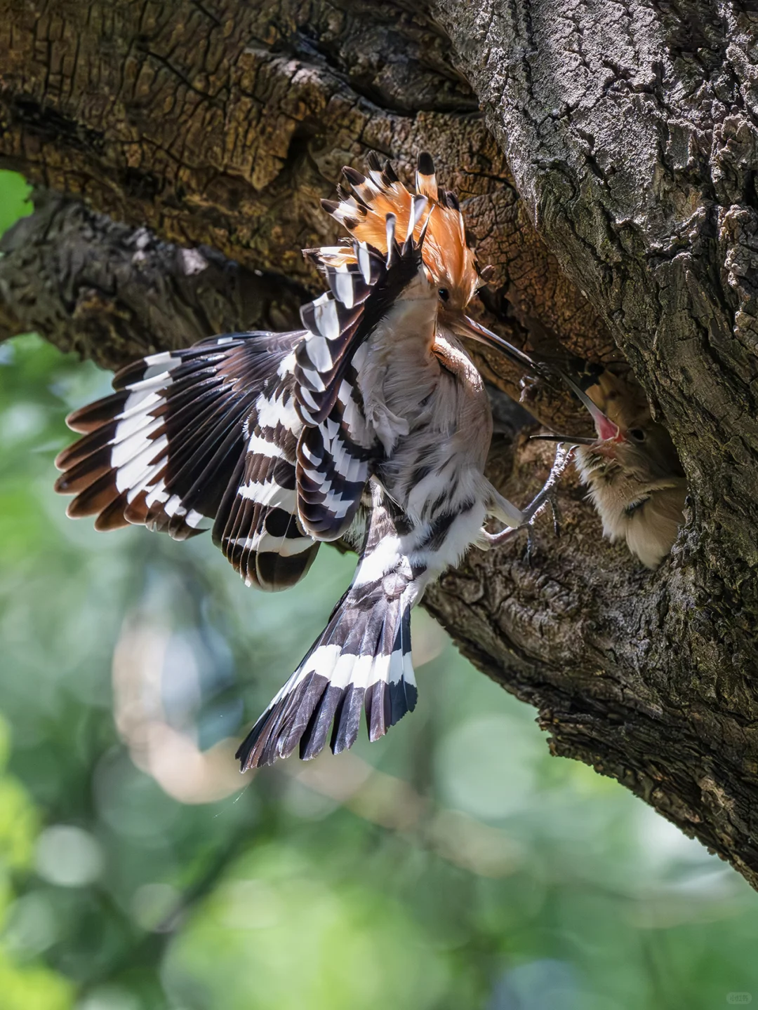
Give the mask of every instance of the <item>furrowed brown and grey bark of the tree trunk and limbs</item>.
[{"label": "furrowed brown and grey bark of the tree trunk and limbs", "polygon": [[[531,560],[472,551],[428,606],[538,707],[556,753],[758,885],[755,16],[716,0],[0,0],[0,15],[2,165],[68,194],[4,239],[0,337],[36,328],[115,367],[290,326],[318,289],[299,249],[337,235],[318,198],[341,167],[376,149],[409,177],[429,149],[496,268],[482,317],[514,342],[537,320],[583,357],[624,351],[689,479],[668,562],[644,572],[600,541],[569,478],[559,538],[546,523]],[[576,423],[532,392],[538,416]],[[491,470],[526,501],[548,462],[522,434]]]}]

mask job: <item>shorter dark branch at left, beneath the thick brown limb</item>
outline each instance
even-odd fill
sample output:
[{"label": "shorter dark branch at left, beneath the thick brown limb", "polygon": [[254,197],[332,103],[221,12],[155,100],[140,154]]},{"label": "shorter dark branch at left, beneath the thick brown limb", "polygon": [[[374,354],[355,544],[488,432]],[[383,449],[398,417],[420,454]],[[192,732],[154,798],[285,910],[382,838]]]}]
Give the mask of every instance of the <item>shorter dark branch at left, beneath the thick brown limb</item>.
[{"label": "shorter dark branch at left, beneath the thick brown limb", "polygon": [[307,292],[207,246],[180,248],[37,194],[0,239],[0,339],[36,330],[104,368],[211,333],[293,329]]}]

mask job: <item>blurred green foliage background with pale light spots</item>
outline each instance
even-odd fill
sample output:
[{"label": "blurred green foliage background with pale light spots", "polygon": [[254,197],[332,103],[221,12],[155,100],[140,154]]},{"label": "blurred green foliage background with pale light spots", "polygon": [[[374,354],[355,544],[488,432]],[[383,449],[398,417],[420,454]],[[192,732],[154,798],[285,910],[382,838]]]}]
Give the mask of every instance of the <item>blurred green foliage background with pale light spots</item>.
[{"label": "blurred green foliage background with pale light spots", "polygon": [[[4,210],[23,193],[0,175]],[[422,612],[412,716],[241,778],[235,739],[354,559],[324,548],[270,596],[207,537],[68,520],[64,416],[107,389],[37,337],[0,345],[2,1010],[758,998],[756,895],[621,786],[549,756],[534,712]]]}]

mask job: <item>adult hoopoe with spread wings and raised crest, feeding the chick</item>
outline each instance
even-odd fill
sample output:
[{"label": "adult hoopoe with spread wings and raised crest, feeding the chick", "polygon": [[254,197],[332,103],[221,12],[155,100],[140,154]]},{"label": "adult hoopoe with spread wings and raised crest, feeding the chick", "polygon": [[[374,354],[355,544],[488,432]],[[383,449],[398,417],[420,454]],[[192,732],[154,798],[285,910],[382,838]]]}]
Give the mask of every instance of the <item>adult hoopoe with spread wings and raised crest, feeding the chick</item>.
[{"label": "adult hoopoe with spread wings and raised crest, feeding the chick", "polygon": [[[243,742],[242,769],[382,736],[416,702],[410,611],[471,544],[531,522],[484,476],[492,421],[462,338],[483,283],[454,194],[421,155],[415,193],[387,163],[345,169],[324,208],[346,244],[306,250],[328,290],[303,329],[215,336],[119,372],[68,418],[57,490],[95,528],[211,529],[246,584],[301,579],[323,540],[359,550],[350,588]],[[515,348],[510,350],[516,355]],[[488,516],[506,526],[484,529]]]}]

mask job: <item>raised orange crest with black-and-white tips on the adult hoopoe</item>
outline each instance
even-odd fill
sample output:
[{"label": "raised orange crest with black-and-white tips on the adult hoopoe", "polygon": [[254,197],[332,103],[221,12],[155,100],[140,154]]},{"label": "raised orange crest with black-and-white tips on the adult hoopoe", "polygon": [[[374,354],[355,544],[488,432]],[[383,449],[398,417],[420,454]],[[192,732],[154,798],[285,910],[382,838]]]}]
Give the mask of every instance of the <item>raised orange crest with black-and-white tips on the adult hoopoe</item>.
[{"label": "raised orange crest with black-and-white tips on the adult hoopoe", "polygon": [[[350,191],[338,187],[339,202],[322,200],[321,206],[358,241],[386,252],[387,214],[394,214],[397,233],[404,235],[414,194],[400,182],[389,162],[382,168],[379,159],[372,154],[368,163],[368,176],[349,167],[343,169]],[[470,235],[466,232],[458,198],[438,186],[430,155],[418,156],[415,191],[427,197],[430,207],[413,230],[417,241],[421,230],[427,229],[422,250],[424,266],[432,283],[447,292],[450,305],[463,309],[484,281],[477,270],[474,249],[469,244]],[[333,246],[323,251],[330,254],[333,263],[340,255],[346,262],[353,258],[349,246]]]}]

